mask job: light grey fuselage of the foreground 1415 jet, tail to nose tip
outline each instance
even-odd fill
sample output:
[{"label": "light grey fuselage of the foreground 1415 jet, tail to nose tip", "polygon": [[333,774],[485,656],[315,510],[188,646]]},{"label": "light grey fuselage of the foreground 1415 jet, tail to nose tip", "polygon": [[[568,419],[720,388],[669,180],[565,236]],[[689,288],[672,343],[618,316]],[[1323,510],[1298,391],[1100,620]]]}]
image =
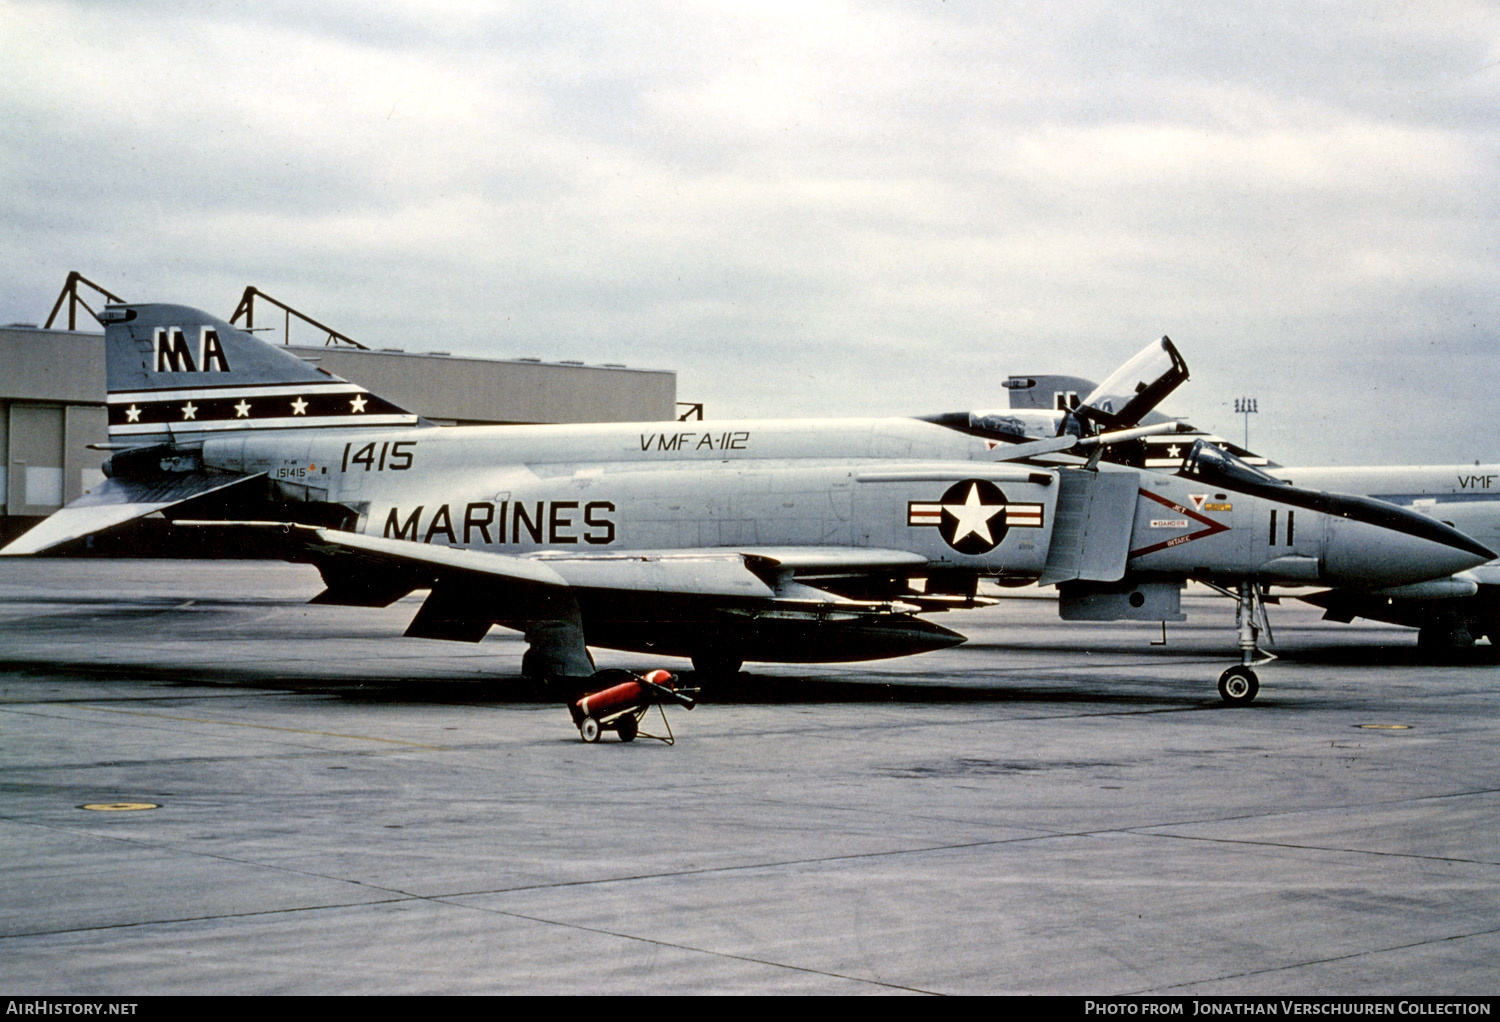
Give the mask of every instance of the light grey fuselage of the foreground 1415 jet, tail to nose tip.
[{"label": "light grey fuselage of the foreground 1415 jet, tail to nose tip", "polygon": [[[346,506],[360,533],[506,554],[840,546],[1034,579],[1062,545],[1102,542],[1137,576],[1338,585],[1485,560],[1389,507],[1077,458],[998,461],[1005,447],[888,417],[240,432],[208,438],[202,458],[264,473],[280,500]],[[1092,531],[1072,521],[1080,501]]]}]

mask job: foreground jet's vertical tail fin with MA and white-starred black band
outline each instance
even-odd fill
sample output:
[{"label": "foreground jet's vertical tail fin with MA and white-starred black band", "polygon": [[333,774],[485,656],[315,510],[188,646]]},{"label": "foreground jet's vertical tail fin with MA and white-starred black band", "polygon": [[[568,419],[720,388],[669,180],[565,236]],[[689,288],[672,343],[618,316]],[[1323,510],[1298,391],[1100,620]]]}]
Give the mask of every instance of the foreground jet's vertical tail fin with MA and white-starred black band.
[{"label": "foreground jet's vertical tail fin with MA and white-starred black band", "polygon": [[291,351],[182,305],[111,305],[110,440],[184,443],[236,429],[404,426],[417,416]]}]

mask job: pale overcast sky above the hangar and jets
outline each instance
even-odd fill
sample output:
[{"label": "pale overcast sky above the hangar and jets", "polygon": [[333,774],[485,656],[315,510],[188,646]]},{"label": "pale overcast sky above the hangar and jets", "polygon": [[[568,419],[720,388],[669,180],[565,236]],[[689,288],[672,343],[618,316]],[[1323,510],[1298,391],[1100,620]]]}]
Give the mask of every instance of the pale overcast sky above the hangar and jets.
[{"label": "pale overcast sky above the hangar and jets", "polygon": [[0,323],[254,284],[712,417],[1167,333],[1286,464],[1500,461],[1497,99],[1492,3],[0,0]]}]

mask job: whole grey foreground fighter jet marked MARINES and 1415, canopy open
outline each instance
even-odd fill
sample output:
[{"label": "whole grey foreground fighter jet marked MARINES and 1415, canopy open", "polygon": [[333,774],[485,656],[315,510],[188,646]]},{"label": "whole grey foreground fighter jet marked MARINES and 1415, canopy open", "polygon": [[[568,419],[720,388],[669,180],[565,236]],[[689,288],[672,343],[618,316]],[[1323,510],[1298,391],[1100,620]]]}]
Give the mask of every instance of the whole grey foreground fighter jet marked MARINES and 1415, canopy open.
[{"label": "whole grey foreground fighter jet marked MARINES and 1415, canopy open", "polygon": [[554,426],[432,426],[195,309],[112,305],[108,479],[4,554],[160,513],[280,537],[315,603],[428,596],[406,635],[524,632],[522,671],[578,681],[588,647],[692,659],[838,662],[963,641],[922,614],[976,606],[980,578],[1108,585],[1188,573],[1240,591],[1228,702],[1258,683],[1252,593],[1312,575],[1407,585],[1494,554],[1358,497],[1269,485],[1212,444],[1184,474],[1100,458],[1186,380],[1162,338],[1058,435],[986,414]]}]

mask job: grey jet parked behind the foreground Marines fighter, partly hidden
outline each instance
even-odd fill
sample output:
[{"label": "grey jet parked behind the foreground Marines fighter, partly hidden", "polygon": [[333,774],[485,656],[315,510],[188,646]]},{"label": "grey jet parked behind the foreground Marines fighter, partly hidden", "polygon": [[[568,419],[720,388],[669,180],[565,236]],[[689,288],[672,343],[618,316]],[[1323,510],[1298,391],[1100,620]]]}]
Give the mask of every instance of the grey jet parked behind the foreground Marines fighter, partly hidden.
[{"label": "grey jet parked behind the foreground Marines fighter, partly hidden", "polygon": [[[1014,375],[1005,381],[1010,392],[1011,429],[1023,435],[1050,435],[1065,422],[1068,408],[1094,384],[1078,377]],[[1166,420],[1152,413],[1143,422]],[[1180,425],[1173,435],[1143,437],[1110,449],[1108,456],[1122,464],[1182,471],[1191,464],[1196,438],[1227,450],[1254,465],[1270,483],[1296,483],[1311,489],[1360,494],[1452,525],[1479,543],[1500,548],[1500,465],[1352,465],[1286,467],[1263,455],[1212,434]],[[1182,620],[1176,614],[1176,590],[1184,578],[1132,579],[1136,585],[1112,591],[1064,591],[1062,615],[1068,620]],[[1418,629],[1418,645],[1449,650],[1472,645],[1488,636],[1500,645],[1500,560],[1446,578],[1431,578],[1390,587],[1340,587],[1330,578],[1308,578],[1299,584],[1298,599],[1324,609],[1324,618],[1376,621]],[[1305,591],[1305,587],[1332,587]],[[1131,603],[1126,596],[1140,593]]]}]

